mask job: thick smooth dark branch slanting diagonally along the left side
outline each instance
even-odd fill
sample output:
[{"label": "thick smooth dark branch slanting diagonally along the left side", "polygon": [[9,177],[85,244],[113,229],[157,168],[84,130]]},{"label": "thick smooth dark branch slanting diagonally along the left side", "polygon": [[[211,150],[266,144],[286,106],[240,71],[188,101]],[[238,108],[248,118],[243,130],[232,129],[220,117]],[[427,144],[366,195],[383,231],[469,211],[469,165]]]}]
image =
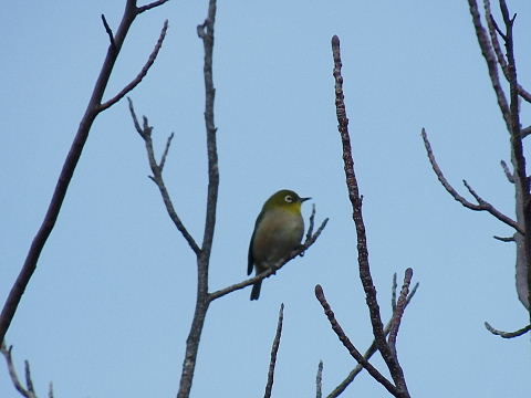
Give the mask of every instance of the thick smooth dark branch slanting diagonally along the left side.
[{"label": "thick smooth dark branch slanting diagonally along the left side", "polygon": [[122,17],[122,22],[119,23],[118,30],[114,36],[114,45],[110,44],[108,46],[107,55],[103,62],[102,70],[100,71],[100,75],[91,95],[91,100],[88,101],[85,113],[77,128],[77,133],[75,134],[70,151],[61,169],[52,199],[44,216],[44,220],[33,238],[24,264],[22,265],[19,276],[11,287],[8,298],[2,307],[2,312],[0,314],[0,342],[2,342],[6,336],[14,313],[17,312],[20,300],[22,298],[22,294],[24,293],[24,290],[37,269],[37,263],[39,261],[39,256],[41,255],[42,249],[44,248],[44,244],[46,243],[46,240],[50,237],[53,227],[55,226],[55,221],[58,220],[59,212],[61,211],[70,181],[72,180],[75,167],[77,166],[77,161],[80,160],[83,151],[83,147],[88,138],[88,132],[91,130],[92,124],[94,123],[96,116],[103,111],[101,107],[101,102],[103,93],[105,92],[105,87],[107,86],[111,72],[113,71],[116,59],[118,57],[125,36],[127,35],[127,32],[137,14],[136,1],[127,0],[124,14]]}]

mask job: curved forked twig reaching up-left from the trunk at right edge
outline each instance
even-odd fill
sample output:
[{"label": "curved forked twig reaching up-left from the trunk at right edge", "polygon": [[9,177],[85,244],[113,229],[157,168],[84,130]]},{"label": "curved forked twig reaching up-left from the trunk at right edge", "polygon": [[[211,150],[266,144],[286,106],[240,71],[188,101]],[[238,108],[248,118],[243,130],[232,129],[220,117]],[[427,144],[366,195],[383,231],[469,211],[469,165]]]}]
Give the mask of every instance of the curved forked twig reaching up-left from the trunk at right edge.
[{"label": "curved forked twig reaching up-left from the trunk at right edge", "polygon": [[479,197],[473,189],[470,188],[470,186],[467,184],[467,181],[464,180],[465,186],[468,188],[470,193],[475,197],[475,199],[478,201],[478,205],[469,202],[467,199],[465,199],[462,196],[460,196],[456,189],[448,182],[446,177],[444,176],[442,171],[439,168],[439,165],[437,164],[437,160],[435,159],[434,153],[431,150],[431,145],[429,144],[428,140],[428,135],[426,133],[426,129],[423,128],[423,140],[424,140],[424,146],[426,147],[426,153],[428,155],[429,163],[431,164],[431,168],[434,169],[435,175],[437,176],[438,180],[445,187],[448,193],[451,195],[451,197],[457,200],[459,203],[461,203],[464,207],[470,210],[475,211],[487,211],[493,217],[496,217],[498,220],[507,223],[508,226],[514,228],[517,231],[523,233],[522,228],[517,223],[517,221],[512,220],[510,217],[503,214],[500,212],[498,209],[496,209],[492,205],[483,200],[481,197]]}]

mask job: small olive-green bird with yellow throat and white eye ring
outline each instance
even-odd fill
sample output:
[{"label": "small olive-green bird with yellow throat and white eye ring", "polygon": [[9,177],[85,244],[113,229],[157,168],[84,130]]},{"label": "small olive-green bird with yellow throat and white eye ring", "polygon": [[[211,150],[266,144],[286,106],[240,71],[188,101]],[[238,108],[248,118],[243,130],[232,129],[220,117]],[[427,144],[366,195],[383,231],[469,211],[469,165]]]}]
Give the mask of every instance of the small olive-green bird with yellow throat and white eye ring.
[{"label": "small olive-green bird with yellow throat and white eye ring", "polygon": [[[301,198],[290,189],[273,193],[257,217],[249,243],[247,274],[266,272],[278,261],[287,258],[301,244],[304,220],[301,214]],[[262,281],[253,284],[251,300],[258,300]]]}]

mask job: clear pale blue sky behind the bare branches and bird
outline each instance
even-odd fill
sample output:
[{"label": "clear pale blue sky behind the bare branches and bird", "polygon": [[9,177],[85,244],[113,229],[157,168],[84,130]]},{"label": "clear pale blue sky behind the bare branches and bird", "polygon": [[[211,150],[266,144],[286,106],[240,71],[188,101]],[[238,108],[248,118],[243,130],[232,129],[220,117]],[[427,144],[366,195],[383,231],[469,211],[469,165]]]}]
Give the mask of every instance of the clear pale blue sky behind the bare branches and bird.
[{"label": "clear pale blue sky behind the bare branches and bird", "polygon": [[[9,1],[0,13],[0,300],[3,303],[43,218],[125,1]],[[496,4],[493,4],[494,7]],[[531,87],[531,2],[518,12],[520,81]],[[175,139],[166,181],[196,240],[202,237],[206,151],[202,43],[207,1],[170,1],[132,27],[105,97],[140,70],[165,19],[167,40],[131,94],[160,149]],[[192,397],[263,395],[280,304],[284,333],[274,397],[314,396],[354,367],[314,297],[323,285],[339,321],[364,350],[372,341],[357,277],[355,231],[336,130],[330,40],[342,42],[353,154],[383,314],[394,272],[420,287],[406,311],[398,355],[412,396],[525,397],[529,336],[502,341],[528,314],[514,291],[509,227],[461,208],[424,151],[426,127],[439,165],[513,216],[499,167],[508,133],[496,105],[466,0],[219,1],[215,85],[220,195],[211,290],[242,281],[254,218],[275,190],[311,196],[321,239],[262,286],[215,302],[199,349]],[[531,123],[529,111],[522,116]],[[529,155],[529,153],[528,153]],[[149,174],[125,101],[95,122],[56,227],[8,332],[19,370],[55,397],[173,397],[195,301],[195,259]],[[311,206],[304,205],[308,217]],[[381,360],[374,364],[382,368]],[[345,397],[383,397],[367,374]],[[0,397],[18,397],[0,364]]]}]

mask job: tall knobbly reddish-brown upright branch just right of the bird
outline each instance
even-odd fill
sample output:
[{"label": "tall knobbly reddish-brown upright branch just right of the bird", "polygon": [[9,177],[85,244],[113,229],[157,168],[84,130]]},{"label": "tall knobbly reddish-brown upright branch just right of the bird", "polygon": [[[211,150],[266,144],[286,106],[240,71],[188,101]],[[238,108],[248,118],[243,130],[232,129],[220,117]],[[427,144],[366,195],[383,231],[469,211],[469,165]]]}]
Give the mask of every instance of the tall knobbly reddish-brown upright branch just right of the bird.
[{"label": "tall knobbly reddish-brown upright branch just right of the bird", "polygon": [[365,300],[371,314],[371,324],[382,357],[384,358],[393,380],[396,384],[397,397],[409,397],[407,385],[398,360],[393,355],[391,347],[385,341],[384,326],[379,314],[379,305],[376,300],[376,289],[374,287],[371,268],[368,263],[368,250],[365,234],[365,224],[362,214],[362,198],[357,187],[357,180],[354,172],[354,160],[352,158],[351,138],[348,135],[348,118],[346,116],[344,95],[343,95],[343,76],[341,75],[341,51],[340,39],[334,35],[332,38],[332,53],[334,57],[334,78],[335,78],[335,108],[337,116],[337,129],[341,135],[343,146],[343,163],[346,177],[346,186],[348,189],[348,198],[352,203],[353,219],[356,226],[357,234],[357,262],[360,269],[360,279],[365,291]]}]

